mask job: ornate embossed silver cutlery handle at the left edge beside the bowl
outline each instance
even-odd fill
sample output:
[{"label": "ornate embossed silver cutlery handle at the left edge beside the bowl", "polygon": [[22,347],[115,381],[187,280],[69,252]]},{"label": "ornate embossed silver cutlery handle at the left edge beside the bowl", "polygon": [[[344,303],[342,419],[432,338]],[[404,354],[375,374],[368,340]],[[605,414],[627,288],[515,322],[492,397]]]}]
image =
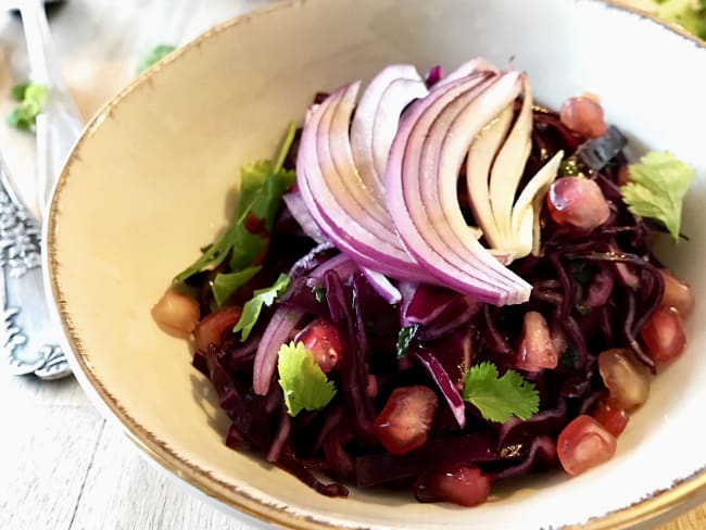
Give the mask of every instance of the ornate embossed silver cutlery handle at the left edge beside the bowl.
[{"label": "ornate embossed silver cutlery handle at the left edge beside the bowl", "polygon": [[15,375],[59,379],[71,374],[56,344],[40,257],[41,227],[12,189],[0,154],[0,302],[3,351]]}]

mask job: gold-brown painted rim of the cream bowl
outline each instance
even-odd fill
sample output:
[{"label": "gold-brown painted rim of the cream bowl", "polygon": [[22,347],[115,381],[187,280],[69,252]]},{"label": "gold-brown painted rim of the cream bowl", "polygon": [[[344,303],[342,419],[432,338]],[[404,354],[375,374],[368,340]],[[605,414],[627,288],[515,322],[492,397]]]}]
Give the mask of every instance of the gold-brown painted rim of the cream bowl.
[{"label": "gold-brown painted rim of the cream bowl", "polygon": [[[577,2],[579,0],[573,1]],[[688,33],[682,26],[661,21],[653,13],[633,5],[628,5],[623,0],[590,1],[603,4],[608,9],[615,9],[631,13],[642,18],[647,18],[653,23],[663,26],[666,30],[675,33],[691,41],[697,48],[706,50],[706,41]],[[68,307],[65,303],[65,296],[58,275],[59,260],[56,253],[56,239],[58,226],[60,223],[59,217],[61,214],[61,194],[66,180],[68,179],[68,175],[71,174],[72,166],[76,161],[80,160],[80,149],[84,143],[96,134],[105,118],[110,117],[113,109],[119,105],[122,101],[138,87],[144,84],[151,84],[152,76],[159,75],[159,73],[164,67],[168,66],[168,64],[177,61],[182,54],[188,53],[190,50],[199,48],[202,42],[210,40],[213,36],[229,30],[232,27],[247,24],[255,17],[267,16],[269,13],[278,12],[280,10],[289,10],[304,3],[306,3],[306,0],[279,0],[273,4],[257,8],[248,13],[222,22],[200,34],[186,45],[177,48],[175,52],[138,75],[111,100],[105,102],[86,125],[54,185],[42,235],[42,265],[45,270],[45,285],[49,288],[47,289],[48,296],[50,298],[52,305],[55,307],[54,317],[61,326],[64,335],[64,342],[68,346],[67,352],[70,361],[72,362],[72,368],[77,376],[79,383],[84,387],[84,390],[86,390],[89,396],[91,396],[94,405],[103,413],[103,415],[119,422],[118,425],[122,430],[142,452],[142,456],[154,460],[163,468],[163,470],[168,471],[172,477],[181,479],[184,483],[192,487],[194,491],[200,490],[201,493],[217,501],[217,503],[220,504],[219,507],[227,507],[229,510],[235,509],[268,523],[298,530],[331,529],[338,527],[312,516],[298,516],[289,510],[281,509],[278,506],[267,504],[262,499],[245,493],[242,490],[234,489],[232,484],[213,476],[209,470],[203,469],[194,463],[187,460],[177,454],[167,442],[157,438],[148,427],[134,419],[128,411],[121,404],[117,396],[103,384],[100,376],[93,369],[89,352],[83,348],[81,339],[78,337],[76,329],[72,324]],[[696,469],[688,477],[675,480],[671,488],[654,491],[629,506],[617,508],[600,516],[594,516],[581,523],[563,526],[560,528],[567,530],[628,528],[648,521],[658,516],[673,513],[673,510],[677,510],[680,506],[686,506],[690,504],[690,501],[695,501],[697,500],[696,497],[704,495],[706,495],[706,465],[701,469]],[[698,500],[701,501],[701,499]],[[230,513],[232,514],[232,512]]]}]

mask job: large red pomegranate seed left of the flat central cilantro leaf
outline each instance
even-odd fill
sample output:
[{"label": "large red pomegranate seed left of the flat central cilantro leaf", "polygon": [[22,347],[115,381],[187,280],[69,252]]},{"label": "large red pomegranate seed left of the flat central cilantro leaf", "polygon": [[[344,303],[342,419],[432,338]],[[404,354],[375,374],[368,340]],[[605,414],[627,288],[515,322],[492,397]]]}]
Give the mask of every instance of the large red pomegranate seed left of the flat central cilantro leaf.
[{"label": "large red pomegranate seed left of the flat central cilantro leaf", "polygon": [[394,389],[373,424],[378,440],[395,455],[424,445],[438,405],[437,394],[428,387]]}]

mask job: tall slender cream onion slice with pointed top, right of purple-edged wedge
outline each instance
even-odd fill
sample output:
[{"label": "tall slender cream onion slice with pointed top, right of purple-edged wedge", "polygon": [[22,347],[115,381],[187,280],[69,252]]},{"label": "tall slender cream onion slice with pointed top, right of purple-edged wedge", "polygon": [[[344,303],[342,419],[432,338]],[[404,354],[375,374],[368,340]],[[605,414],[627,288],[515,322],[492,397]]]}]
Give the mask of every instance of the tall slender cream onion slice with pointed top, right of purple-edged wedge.
[{"label": "tall slender cream onion slice with pointed top, right of purple-edged wedge", "polygon": [[525,98],[519,115],[497,152],[490,174],[490,203],[505,245],[513,240],[509,226],[513,201],[532,148],[532,90],[527,79],[524,79],[522,88]]}]

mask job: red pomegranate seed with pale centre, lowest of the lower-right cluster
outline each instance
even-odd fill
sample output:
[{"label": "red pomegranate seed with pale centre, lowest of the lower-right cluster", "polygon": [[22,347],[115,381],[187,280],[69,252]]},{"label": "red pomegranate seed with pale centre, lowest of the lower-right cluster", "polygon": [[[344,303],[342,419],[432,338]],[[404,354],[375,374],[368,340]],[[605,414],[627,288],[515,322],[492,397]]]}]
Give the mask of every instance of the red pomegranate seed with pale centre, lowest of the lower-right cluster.
[{"label": "red pomegranate seed with pale centre, lowest of the lower-right cluster", "polygon": [[609,460],[616,445],[616,438],[605,427],[582,414],[560,432],[556,451],[564,470],[575,476]]}]

